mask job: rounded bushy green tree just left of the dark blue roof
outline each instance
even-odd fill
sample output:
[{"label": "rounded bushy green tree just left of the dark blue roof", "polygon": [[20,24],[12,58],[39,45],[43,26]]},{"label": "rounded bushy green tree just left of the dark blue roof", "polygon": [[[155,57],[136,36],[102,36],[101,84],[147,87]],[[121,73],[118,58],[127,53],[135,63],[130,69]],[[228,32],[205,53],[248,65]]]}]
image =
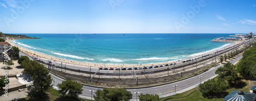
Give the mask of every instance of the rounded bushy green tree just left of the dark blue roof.
[{"label": "rounded bushy green tree just left of the dark blue roof", "polygon": [[227,84],[223,79],[209,79],[206,82],[199,84],[199,90],[204,97],[212,98],[221,96],[227,90]]}]

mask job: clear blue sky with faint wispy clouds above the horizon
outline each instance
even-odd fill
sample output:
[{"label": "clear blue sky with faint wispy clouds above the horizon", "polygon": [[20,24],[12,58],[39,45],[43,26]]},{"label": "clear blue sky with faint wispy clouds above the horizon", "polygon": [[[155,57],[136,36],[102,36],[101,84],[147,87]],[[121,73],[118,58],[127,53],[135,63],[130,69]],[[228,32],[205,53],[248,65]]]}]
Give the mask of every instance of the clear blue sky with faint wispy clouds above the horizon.
[{"label": "clear blue sky with faint wispy clouds above the horizon", "polygon": [[249,33],[256,1],[0,0],[4,33]]}]

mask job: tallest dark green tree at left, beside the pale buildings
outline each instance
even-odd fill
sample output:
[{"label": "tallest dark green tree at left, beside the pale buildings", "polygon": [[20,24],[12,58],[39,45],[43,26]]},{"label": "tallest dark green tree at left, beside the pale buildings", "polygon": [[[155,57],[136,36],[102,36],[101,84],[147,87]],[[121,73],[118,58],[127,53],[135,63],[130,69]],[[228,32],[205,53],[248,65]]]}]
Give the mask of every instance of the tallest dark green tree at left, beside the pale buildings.
[{"label": "tallest dark green tree at left, beside the pale buildings", "polygon": [[29,91],[40,93],[42,97],[42,94],[52,87],[51,75],[45,65],[33,60],[24,60],[21,66],[24,68],[23,73],[29,74],[33,79],[33,86],[29,87]]}]

